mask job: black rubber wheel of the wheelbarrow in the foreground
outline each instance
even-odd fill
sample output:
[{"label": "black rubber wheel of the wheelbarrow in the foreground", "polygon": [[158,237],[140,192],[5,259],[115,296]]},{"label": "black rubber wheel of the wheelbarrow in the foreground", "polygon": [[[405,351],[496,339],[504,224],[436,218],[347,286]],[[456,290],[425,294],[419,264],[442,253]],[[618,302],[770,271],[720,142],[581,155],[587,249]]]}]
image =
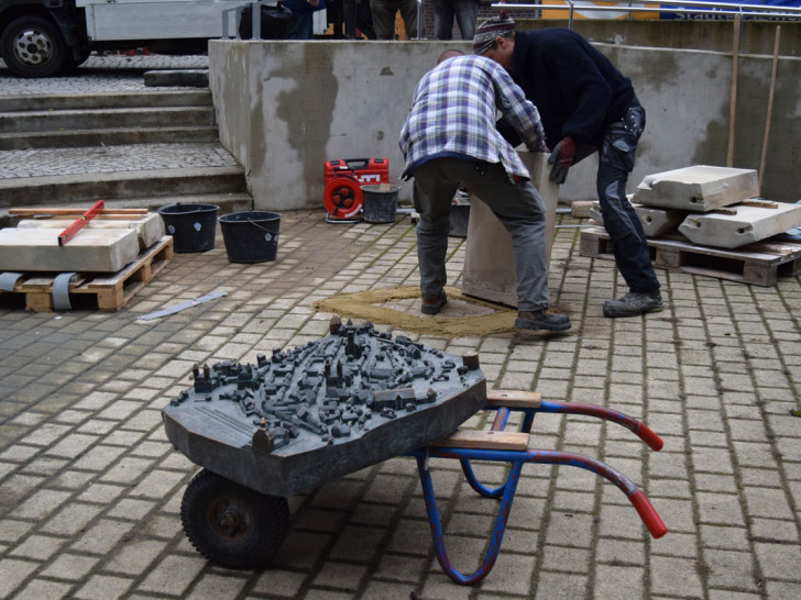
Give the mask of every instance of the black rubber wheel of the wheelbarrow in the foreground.
[{"label": "black rubber wheel of the wheelbarrow in the foreground", "polygon": [[204,469],[184,492],[180,521],[191,545],[212,563],[259,569],[270,565],[286,538],[289,504]]}]

